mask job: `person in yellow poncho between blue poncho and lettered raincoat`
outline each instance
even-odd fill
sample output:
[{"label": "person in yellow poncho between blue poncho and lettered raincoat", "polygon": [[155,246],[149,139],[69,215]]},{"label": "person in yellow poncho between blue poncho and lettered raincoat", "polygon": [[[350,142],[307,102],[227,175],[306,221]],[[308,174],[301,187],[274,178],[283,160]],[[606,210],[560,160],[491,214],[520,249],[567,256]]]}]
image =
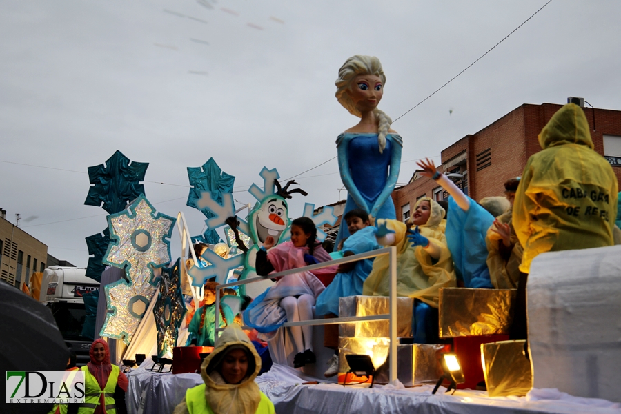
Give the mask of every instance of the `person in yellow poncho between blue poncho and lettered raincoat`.
[{"label": "person in yellow poncho between blue poncho and lettered raincoat", "polygon": [[497,289],[515,289],[520,279],[520,263],[522,263],[522,245],[517,240],[513,224],[513,201],[515,192],[520,184],[520,178],[512,178],[504,183],[506,199],[511,208],[506,213],[496,217],[487,230],[485,243],[487,245],[487,267],[489,278]]}]

